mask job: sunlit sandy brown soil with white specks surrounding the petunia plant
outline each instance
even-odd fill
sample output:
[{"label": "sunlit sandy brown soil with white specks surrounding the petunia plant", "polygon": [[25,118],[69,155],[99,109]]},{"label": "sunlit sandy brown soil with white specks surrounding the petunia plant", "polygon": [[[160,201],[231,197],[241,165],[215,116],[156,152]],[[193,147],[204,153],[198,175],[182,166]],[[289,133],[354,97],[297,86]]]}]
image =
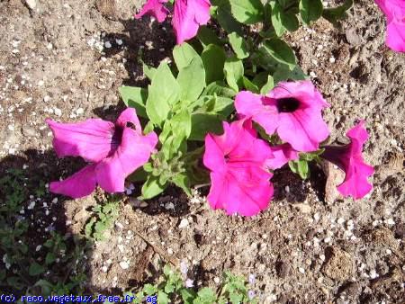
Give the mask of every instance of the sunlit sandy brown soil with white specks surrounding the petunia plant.
[{"label": "sunlit sandy brown soil with white specks surrounding the petunia plant", "polygon": [[[113,120],[123,108],[118,87],[146,84],[139,50],[156,66],[175,41],[169,23],[131,18],[138,0],[29,3],[0,1],[0,173],[19,167],[48,182],[83,163],[57,159],[45,118]],[[230,270],[254,274],[263,303],[403,302],[405,55],[385,47],[384,31],[374,1],[360,0],[341,28],[320,20],[287,37],[331,104],[329,141],[344,142],[365,119],[371,194],[343,200],[331,186],[338,173],[326,183],[318,169],[306,182],[286,170],[275,174],[274,201],[250,219],[209,210],[201,192],[192,200],[175,190],[155,201],[125,198],[109,240],[88,256],[88,290],[109,293],[156,278],[161,256],[140,233],[188,264],[197,286],[215,287]],[[52,200],[40,235],[52,221],[83,232],[97,195]]]}]

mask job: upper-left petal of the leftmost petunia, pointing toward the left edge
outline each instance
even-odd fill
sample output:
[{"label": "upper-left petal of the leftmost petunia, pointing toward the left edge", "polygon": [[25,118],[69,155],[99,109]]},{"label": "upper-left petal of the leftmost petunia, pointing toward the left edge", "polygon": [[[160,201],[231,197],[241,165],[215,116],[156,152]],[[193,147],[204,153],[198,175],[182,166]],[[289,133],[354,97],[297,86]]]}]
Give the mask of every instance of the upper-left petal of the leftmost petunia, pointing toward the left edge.
[{"label": "upper-left petal of the leftmost petunia, pointing toward the left edge", "polygon": [[58,157],[82,156],[98,162],[112,150],[114,125],[110,121],[90,119],[77,123],[46,120],[53,132],[53,148]]}]

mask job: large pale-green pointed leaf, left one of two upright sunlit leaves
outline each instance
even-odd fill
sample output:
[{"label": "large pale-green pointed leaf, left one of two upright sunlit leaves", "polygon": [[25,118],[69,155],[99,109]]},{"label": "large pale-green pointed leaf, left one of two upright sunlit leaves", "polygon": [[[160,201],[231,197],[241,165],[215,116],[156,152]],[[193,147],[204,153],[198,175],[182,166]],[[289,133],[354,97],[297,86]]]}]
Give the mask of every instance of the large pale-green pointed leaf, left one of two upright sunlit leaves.
[{"label": "large pale-green pointed leaf, left one of two upright sunlit leaves", "polygon": [[161,126],[169,115],[171,105],[178,101],[180,94],[180,87],[166,62],[161,62],[157,67],[152,84],[148,88],[149,94],[146,103],[148,118]]}]

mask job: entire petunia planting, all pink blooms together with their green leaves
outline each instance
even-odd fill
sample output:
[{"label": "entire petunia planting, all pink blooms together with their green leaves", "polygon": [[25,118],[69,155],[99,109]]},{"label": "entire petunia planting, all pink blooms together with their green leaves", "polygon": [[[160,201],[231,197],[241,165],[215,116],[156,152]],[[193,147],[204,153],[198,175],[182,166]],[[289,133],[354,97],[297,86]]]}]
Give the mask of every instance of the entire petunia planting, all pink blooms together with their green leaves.
[{"label": "entire petunia planting, all pink blooms together with their green leaves", "polygon": [[[324,8],[320,0],[212,3],[148,0],[135,15],[152,14],[163,22],[173,6],[176,68],[165,61],[157,68],[144,64],[150,85],[121,87],[129,108],[115,123],[48,120],[57,155],[80,156],[88,163],[67,179],[50,183],[51,192],[79,198],[99,185],[106,192],[131,193],[139,188],[125,187],[130,175],[131,182],[144,182],[140,199],[146,200],[169,184],[191,195],[193,185],[211,180],[207,200],[212,209],[253,216],[272,200],[275,170],[288,164],[307,178],[312,160],[329,161],[345,172],[338,185],[343,196],[361,199],[372,191],[368,178],[374,168],[362,155],[368,138],[365,121],[347,131],[347,145],[327,146],[329,126],[322,112],[330,105],[281,39],[300,20],[307,25],[320,17],[338,22],[352,1],[334,8]],[[387,15],[388,46],[404,51],[404,1],[376,3]],[[208,27],[197,35],[211,18],[228,36],[217,37]],[[257,27],[263,29],[253,40],[244,32],[255,23],[264,26]],[[192,44],[184,42],[194,37]],[[147,134],[137,113],[148,121]]]}]

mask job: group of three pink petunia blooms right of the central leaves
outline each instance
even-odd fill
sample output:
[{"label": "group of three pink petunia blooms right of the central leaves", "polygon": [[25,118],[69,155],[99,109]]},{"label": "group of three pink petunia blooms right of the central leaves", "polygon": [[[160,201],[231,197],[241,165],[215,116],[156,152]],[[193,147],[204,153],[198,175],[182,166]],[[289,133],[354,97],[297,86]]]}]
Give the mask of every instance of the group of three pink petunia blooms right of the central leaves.
[{"label": "group of three pink petunia blooms right of the central leaves", "polygon": [[[266,95],[240,92],[235,100],[239,121],[224,123],[224,134],[207,135],[204,165],[211,170],[208,201],[213,209],[244,216],[265,210],[273,195],[269,170],[312,152],[328,138],[328,125],[321,110],[329,104],[310,81],[282,82]],[[267,135],[277,133],[282,145],[270,146],[257,139],[255,121]],[[364,121],[347,132],[352,139],[345,147],[325,147],[324,158],[346,173],[338,186],[343,195],[360,199],[371,191],[367,177],[374,173],[361,155],[367,139]]]}]

